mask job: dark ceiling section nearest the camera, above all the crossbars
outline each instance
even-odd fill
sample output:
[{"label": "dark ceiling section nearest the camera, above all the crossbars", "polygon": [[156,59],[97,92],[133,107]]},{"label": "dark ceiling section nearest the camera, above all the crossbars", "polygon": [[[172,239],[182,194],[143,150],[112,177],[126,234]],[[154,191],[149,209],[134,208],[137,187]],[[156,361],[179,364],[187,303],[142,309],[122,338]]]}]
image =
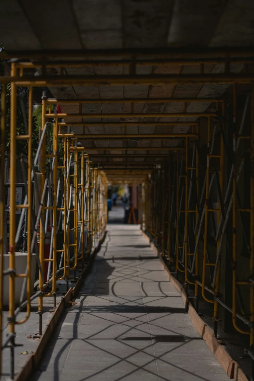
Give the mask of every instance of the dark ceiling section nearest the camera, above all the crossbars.
[{"label": "dark ceiling section nearest the camera, above all the crossbars", "polygon": [[252,0],[1,0],[8,50],[253,46]]}]

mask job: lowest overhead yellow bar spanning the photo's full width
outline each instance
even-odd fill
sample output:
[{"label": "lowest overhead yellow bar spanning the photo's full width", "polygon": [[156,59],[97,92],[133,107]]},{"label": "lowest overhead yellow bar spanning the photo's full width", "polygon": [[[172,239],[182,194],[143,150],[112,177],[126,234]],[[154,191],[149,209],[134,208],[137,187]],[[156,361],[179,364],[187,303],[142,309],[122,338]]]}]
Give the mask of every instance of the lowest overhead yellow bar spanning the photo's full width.
[{"label": "lowest overhead yellow bar spanning the photo's full width", "polygon": [[157,74],[157,75],[55,75],[35,77],[0,77],[0,83],[14,82],[17,86],[131,86],[168,84],[234,84],[252,83],[254,73],[212,73],[212,74]]}]

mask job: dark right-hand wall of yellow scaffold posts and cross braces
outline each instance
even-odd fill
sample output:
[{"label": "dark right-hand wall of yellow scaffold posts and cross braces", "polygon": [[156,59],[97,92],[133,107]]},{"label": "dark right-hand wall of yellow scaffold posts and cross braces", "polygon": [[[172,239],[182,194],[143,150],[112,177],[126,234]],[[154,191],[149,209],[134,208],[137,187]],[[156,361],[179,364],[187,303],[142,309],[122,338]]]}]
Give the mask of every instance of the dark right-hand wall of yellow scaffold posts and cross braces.
[{"label": "dark right-hand wall of yellow scaffold posts and cross braces", "polygon": [[[204,128],[207,134],[206,154],[200,151],[200,126],[192,126],[195,136],[186,136],[184,146],[171,151],[168,159],[157,165],[143,183],[142,227],[173,273],[180,278],[182,274],[186,291],[194,288],[194,296],[191,293],[190,298],[195,308],[199,310],[200,297],[214,305],[215,336],[219,308],[226,308],[232,313],[236,331],[250,337],[247,352],[252,353],[253,358],[254,87],[252,85],[251,95],[246,96],[241,121],[236,119],[236,85],[233,88],[233,115],[230,116],[229,111],[226,114],[224,101],[218,99],[217,117],[208,115],[206,127],[203,122],[203,142]],[[251,121],[249,125],[247,117]],[[231,146],[227,137],[230,131],[233,131]],[[245,147],[249,144],[249,171],[244,171],[247,157],[244,149],[239,149],[243,142]],[[227,182],[226,165],[229,168]],[[248,177],[247,188],[241,179],[243,172]],[[227,230],[231,233],[227,234]],[[240,255],[243,255],[240,244],[247,253],[248,265],[245,263],[244,271],[240,268]],[[221,261],[225,263],[225,255],[229,263],[227,272],[232,276],[232,304],[225,302],[220,284]]]}]

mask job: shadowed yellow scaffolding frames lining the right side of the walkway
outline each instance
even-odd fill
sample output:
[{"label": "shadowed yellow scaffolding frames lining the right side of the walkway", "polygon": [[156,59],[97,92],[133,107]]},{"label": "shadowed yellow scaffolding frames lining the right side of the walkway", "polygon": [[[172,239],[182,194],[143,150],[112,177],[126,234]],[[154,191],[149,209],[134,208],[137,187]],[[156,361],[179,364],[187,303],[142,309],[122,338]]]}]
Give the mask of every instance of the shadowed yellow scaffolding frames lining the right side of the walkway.
[{"label": "shadowed yellow scaffolding frames lining the right side of the walkway", "polygon": [[[171,151],[168,160],[164,162],[167,170],[163,180],[163,192],[157,186],[158,182],[153,179],[158,177],[158,169],[153,169],[153,172],[148,176],[147,180],[143,184],[143,197],[144,203],[147,204],[143,217],[143,230],[151,241],[158,247],[169,269],[173,268],[173,274],[177,277],[184,275],[185,289],[188,292],[188,286],[194,285],[194,296],[189,295],[189,300],[196,299],[195,308],[199,310],[200,290],[201,297],[208,303],[214,305],[214,335],[217,337],[218,332],[218,309],[219,306],[226,308],[232,313],[233,325],[239,333],[249,335],[250,337],[250,349],[246,349],[246,353],[253,360],[254,358],[254,87],[251,89],[251,135],[249,133],[243,134],[244,119],[246,116],[246,110],[248,107],[248,99],[250,95],[247,95],[245,110],[243,111],[242,121],[240,128],[236,124],[236,109],[237,109],[237,91],[236,84],[233,85],[233,146],[230,148],[227,145],[225,138],[226,132],[226,118],[225,118],[225,102],[218,99],[217,111],[221,115],[220,121],[211,120],[211,116],[208,116],[207,120],[207,152],[206,158],[203,158],[203,162],[206,162],[206,166],[203,168],[203,180],[201,180],[201,162],[200,162],[200,126],[192,127],[196,128],[196,137],[192,142],[192,161],[189,164],[190,157],[190,137],[185,136],[185,150],[181,149],[177,152]],[[213,133],[212,133],[213,125]],[[246,128],[245,128],[246,130]],[[249,131],[247,131],[249,132]],[[215,138],[217,139],[217,152],[213,153],[215,147]],[[250,173],[250,206],[243,208],[239,196],[239,179],[243,171],[244,158],[239,159],[237,156],[237,150],[240,142],[250,141],[250,160],[251,160],[251,173]],[[231,167],[232,176],[230,176],[229,183],[227,184],[227,190],[225,192],[224,186],[224,167],[225,167],[225,153],[228,162]],[[232,154],[232,159],[230,158]],[[180,162],[181,155],[181,162]],[[237,162],[240,162],[238,163]],[[174,165],[172,165],[174,161]],[[216,169],[211,170],[211,161],[216,164]],[[184,179],[184,181],[182,181]],[[233,191],[231,201],[229,201],[230,184],[233,183]],[[194,186],[195,184],[195,186]],[[211,205],[211,193],[213,189],[213,198],[216,195],[218,207]],[[176,191],[175,191],[176,190]],[[192,192],[190,192],[192,190]],[[214,193],[216,192],[216,193]],[[191,195],[193,193],[193,195]],[[162,197],[163,195],[163,218],[162,218],[162,240],[163,243],[158,241],[160,236],[160,226],[151,226],[151,221],[156,217],[156,207],[154,200]],[[168,202],[170,200],[170,202]],[[223,300],[223,295],[220,290],[220,262],[221,262],[221,248],[222,244],[227,244],[225,237],[225,228],[227,226],[229,215],[233,211],[233,241],[232,241],[232,290],[233,300],[232,307],[227,305]],[[237,257],[239,252],[237,250],[236,237],[239,235],[239,226],[237,221],[243,221],[242,214],[250,215],[250,241],[247,243],[250,253],[250,274],[246,275],[245,279],[238,280],[239,273],[237,273]],[[216,215],[211,218],[213,215]],[[211,216],[212,215],[212,216]],[[237,215],[239,218],[237,220]],[[168,218],[164,218],[168,216]],[[182,217],[183,216],[183,217]],[[210,217],[211,216],[211,217]],[[182,222],[182,223],[181,223]],[[191,223],[192,222],[192,223]],[[243,226],[243,222],[242,226]],[[214,239],[216,242],[216,251],[212,256],[214,260],[211,260],[208,252],[208,233],[209,230],[214,229]],[[167,230],[167,235],[164,232]],[[180,234],[181,232],[181,234]],[[203,243],[200,243],[200,236],[203,234]],[[194,239],[195,245],[191,245],[190,238]],[[246,238],[245,238],[246,239]],[[189,249],[195,247],[194,253]],[[210,251],[211,247],[209,248]],[[201,254],[201,257],[199,258]],[[201,260],[201,264],[200,264]],[[207,271],[210,268],[214,268],[212,273]],[[209,275],[210,274],[210,275]],[[209,286],[210,284],[210,286]],[[240,287],[249,287],[249,304],[245,309],[242,308],[241,303],[241,291]],[[211,295],[211,296],[208,296]],[[187,306],[186,306],[187,307]],[[239,310],[240,309],[240,310]],[[239,310],[239,313],[237,312]],[[249,318],[248,318],[249,317]],[[241,324],[239,324],[241,323]],[[242,328],[242,324],[245,329]],[[247,329],[246,329],[247,328]]]}]

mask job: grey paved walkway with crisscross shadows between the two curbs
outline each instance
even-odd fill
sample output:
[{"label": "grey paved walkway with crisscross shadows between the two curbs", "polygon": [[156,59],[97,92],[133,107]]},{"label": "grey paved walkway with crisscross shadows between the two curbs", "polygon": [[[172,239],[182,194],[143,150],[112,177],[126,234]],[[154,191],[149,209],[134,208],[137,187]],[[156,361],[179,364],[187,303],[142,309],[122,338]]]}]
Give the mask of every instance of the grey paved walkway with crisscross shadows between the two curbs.
[{"label": "grey paved walkway with crisscross shadows between the two curbs", "polygon": [[75,303],[32,381],[229,380],[137,225],[108,225]]}]

